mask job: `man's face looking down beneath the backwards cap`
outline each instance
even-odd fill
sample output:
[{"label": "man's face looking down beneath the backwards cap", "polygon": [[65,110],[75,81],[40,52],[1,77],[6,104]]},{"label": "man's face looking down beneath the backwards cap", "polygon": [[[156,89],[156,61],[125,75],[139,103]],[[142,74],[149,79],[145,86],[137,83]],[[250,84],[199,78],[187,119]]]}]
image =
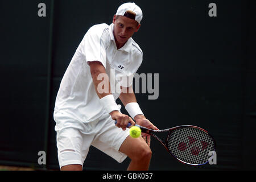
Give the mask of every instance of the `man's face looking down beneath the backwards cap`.
[{"label": "man's face looking down beneath the backwards cap", "polygon": [[138,24],[134,19],[127,18],[126,16],[118,16],[117,18],[117,16],[114,15],[113,23],[114,38],[117,48],[121,48],[141,26],[141,24]]}]

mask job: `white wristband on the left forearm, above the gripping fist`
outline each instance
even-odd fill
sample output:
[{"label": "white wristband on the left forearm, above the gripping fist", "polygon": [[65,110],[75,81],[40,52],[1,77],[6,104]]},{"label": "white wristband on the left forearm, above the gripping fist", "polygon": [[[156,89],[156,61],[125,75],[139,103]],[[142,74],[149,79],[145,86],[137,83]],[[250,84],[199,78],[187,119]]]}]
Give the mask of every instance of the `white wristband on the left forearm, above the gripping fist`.
[{"label": "white wristband on the left forearm, above the gripping fist", "polygon": [[100,99],[100,103],[108,113],[111,113],[114,110],[120,111],[117,103],[115,102],[114,96],[112,94],[102,97]]}]

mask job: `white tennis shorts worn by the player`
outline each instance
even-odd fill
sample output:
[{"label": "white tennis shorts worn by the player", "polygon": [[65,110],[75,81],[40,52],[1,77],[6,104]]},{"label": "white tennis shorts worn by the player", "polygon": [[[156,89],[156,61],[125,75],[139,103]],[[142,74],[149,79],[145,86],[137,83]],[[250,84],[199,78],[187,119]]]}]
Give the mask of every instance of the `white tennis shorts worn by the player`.
[{"label": "white tennis shorts worn by the player", "polygon": [[82,123],[65,111],[55,111],[53,117],[60,168],[68,164],[83,166],[91,145],[119,163],[126,159],[127,155],[119,152],[119,148],[129,136],[129,129],[123,131],[115,126],[110,115],[89,123]]}]

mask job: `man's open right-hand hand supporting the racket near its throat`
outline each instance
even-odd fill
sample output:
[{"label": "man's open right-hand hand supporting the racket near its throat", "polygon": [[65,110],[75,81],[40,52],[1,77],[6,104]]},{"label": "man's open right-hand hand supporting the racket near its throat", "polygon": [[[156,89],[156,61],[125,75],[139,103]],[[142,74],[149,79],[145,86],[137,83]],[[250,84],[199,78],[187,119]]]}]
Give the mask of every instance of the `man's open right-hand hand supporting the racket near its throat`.
[{"label": "man's open right-hand hand supporting the racket near its throat", "polygon": [[[144,115],[138,114],[134,117],[136,124],[146,127],[148,129],[159,130],[155,125],[153,125]],[[150,146],[150,135],[146,133],[141,133],[142,138],[146,141],[148,146]]]}]

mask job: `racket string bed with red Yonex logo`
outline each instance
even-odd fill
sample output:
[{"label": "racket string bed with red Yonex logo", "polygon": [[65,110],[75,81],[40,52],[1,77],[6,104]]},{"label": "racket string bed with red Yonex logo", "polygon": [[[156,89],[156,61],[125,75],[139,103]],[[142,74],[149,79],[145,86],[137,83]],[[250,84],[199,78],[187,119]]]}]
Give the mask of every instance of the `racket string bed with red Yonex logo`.
[{"label": "racket string bed with red Yonex logo", "polygon": [[170,133],[168,148],[177,159],[185,163],[204,164],[210,158],[209,151],[214,150],[214,141],[200,129],[181,127]]}]

